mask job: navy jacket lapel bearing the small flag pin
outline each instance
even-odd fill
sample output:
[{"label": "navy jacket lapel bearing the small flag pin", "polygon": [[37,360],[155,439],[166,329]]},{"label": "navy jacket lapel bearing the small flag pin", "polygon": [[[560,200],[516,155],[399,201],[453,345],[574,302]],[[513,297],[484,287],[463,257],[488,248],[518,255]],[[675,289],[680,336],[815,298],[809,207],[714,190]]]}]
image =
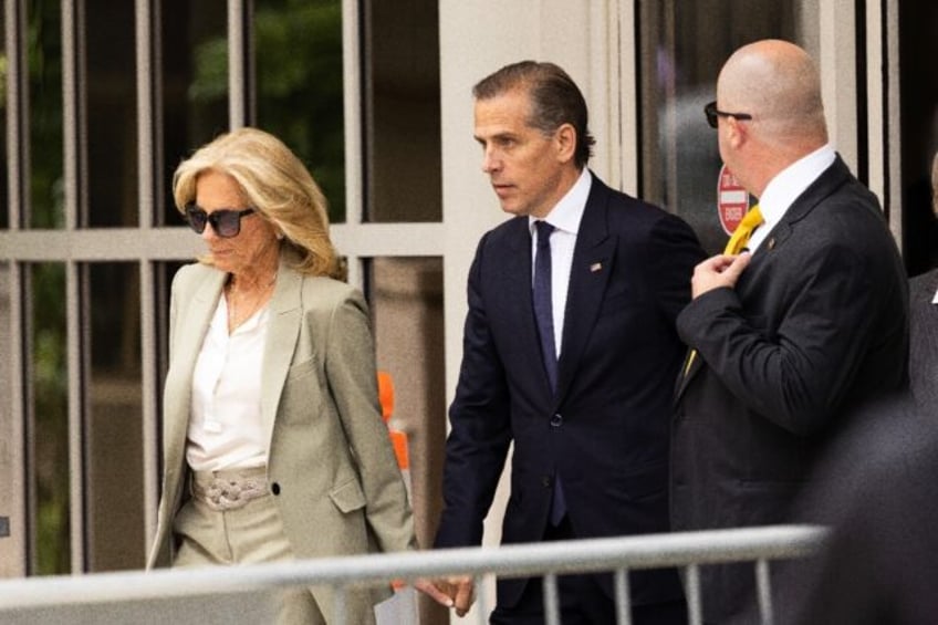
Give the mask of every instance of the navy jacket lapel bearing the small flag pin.
[{"label": "navy jacket lapel bearing the small flag pin", "polygon": [[570,268],[563,343],[557,363],[557,397],[564,395],[573,381],[573,372],[577,369],[595,325],[612,272],[616,239],[608,233],[608,188],[593,176]]}]

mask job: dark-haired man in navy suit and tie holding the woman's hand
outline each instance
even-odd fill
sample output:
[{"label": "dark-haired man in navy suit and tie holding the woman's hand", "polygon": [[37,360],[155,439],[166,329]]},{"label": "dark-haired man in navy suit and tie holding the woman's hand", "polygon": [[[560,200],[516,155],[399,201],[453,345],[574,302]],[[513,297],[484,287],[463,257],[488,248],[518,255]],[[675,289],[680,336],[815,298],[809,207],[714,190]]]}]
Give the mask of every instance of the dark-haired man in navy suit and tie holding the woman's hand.
[{"label": "dark-haired man in navy suit and tie holding the woman's hand", "polygon": [[[473,95],[482,170],[515,217],[482,237],[469,274],[436,546],[480,544],[512,442],[504,543],[665,532],[685,351],[675,317],[702,250],[682,220],[586,168],[586,104],[563,70],[515,63]],[[539,243],[549,258],[539,260]],[[535,312],[544,261],[550,298]],[[461,615],[472,583],[452,582]],[[491,622],[543,623],[541,586],[499,580]],[[609,575],[562,576],[559,586],[564,624],[615,622]],[[684,622],[675,571],[634,573],[630,587],[633,623]]]}]

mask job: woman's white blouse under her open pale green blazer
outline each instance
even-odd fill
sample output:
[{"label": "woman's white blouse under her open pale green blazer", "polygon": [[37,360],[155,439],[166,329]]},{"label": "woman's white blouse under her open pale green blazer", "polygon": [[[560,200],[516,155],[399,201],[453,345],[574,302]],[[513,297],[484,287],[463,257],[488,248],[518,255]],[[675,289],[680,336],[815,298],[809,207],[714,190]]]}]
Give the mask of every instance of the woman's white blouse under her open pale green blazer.
[{"label": "woman's white blouse under her open pale green blazer", "polygon": [[186,460],[192,470],[247,469],[267,463],[261,420],[261,363],[270,314],[263,306],[228,334],[225,296],[192,372]]}]

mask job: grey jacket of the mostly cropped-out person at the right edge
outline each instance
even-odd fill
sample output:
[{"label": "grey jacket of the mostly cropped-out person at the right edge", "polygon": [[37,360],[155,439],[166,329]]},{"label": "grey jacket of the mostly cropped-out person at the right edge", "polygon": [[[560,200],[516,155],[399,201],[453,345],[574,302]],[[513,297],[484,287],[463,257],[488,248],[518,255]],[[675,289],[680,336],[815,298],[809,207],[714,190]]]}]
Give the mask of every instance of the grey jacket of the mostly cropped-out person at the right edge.
[{"label": "grey jacket of the mostly cropped-out person at the right edge", "polygon": [[909,378],[923,414],[938,415],[938,269],[909,281]]}]

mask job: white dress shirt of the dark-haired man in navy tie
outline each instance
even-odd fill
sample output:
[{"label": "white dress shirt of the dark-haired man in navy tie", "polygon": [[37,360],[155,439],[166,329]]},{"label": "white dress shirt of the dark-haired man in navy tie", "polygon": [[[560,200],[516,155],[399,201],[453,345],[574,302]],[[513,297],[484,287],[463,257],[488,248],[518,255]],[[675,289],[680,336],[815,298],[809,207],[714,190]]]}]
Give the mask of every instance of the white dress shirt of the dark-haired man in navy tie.
[{"label": "white dress shirt of the dark-haired man in navy tie", "polygon": [[[566,291],[570,287],[570,269],[573,267],[573,248],[576,246],[576,235],[580,232],[580,221],[586,209],[586,200],[593,186],[593,176],[584,167],[576,183],[566,195],[554,206],[544,221],[554,227],[551,235],[551,308],[554,317],[554,345],[556,357],[560,360],[561,341],[563,338],[563,322],[566,312]],[[528,218],[531,230],[531,283],[534,283],[534,257],[538,252],[538,231],[534,222],[539,219]]]}]

